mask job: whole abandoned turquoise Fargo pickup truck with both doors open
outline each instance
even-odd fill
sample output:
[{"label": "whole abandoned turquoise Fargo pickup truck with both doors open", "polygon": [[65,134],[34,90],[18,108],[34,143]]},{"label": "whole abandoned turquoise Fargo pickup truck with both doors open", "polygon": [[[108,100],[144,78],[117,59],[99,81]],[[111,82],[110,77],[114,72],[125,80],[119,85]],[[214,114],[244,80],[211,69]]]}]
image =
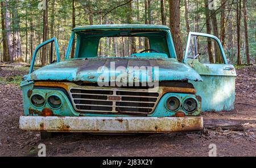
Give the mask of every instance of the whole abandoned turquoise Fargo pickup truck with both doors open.
[{"label": "whole abandoned turquoise Fargo pickup truck with both doors open", "polygon": [[[39,49],[48,44],[51,64],[34,70]],[[200,112],[233,110],[236,71],[216,36],[190,32],[184,53],[177,61],[166,26],[73,28],[64,61],[55,38],[36,47],[21,82],[19,127],[42,137],[200,131]]]}]

